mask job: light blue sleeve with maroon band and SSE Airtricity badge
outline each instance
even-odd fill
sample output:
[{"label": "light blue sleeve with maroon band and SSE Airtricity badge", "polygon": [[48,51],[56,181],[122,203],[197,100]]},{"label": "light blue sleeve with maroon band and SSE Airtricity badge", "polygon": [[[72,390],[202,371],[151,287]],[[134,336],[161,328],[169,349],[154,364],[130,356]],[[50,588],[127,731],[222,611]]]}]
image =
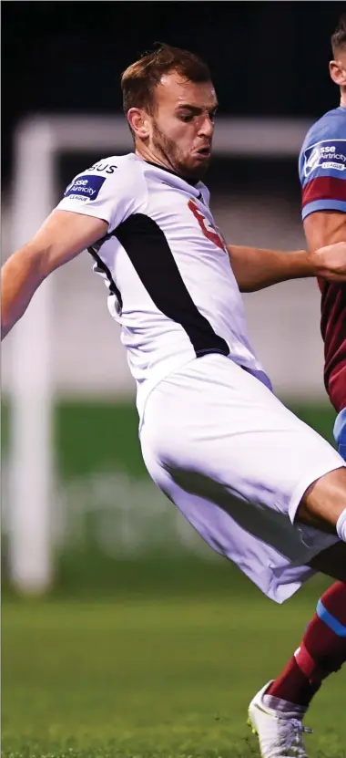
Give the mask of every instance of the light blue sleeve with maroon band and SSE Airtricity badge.
[{"label": "light blue sleeve with maroon band and SSE Airtricity badge", "polygon": [[346,213],[346,140],[321,140],[300,153],[301,216]]}]

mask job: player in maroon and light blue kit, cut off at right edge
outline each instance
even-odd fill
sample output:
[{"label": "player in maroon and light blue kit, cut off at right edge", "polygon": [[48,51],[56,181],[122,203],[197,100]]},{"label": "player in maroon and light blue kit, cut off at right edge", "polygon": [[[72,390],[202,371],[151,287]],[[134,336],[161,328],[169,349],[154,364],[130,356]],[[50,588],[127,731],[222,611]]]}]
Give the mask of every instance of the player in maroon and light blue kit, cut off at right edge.
[{"label": "player in maroon and light blue kit, cut off at right edge", "polygon": [[[331,47],[330,74],[341,90],[340,106],[313,124],[300,151],[301,214],[310,251],[346,240],[346,14],[331,36]],[[346,285],[319,279],[319,286],[324,381],[338,413],[335,441],[346,460]],[[300,647],[278,679],[249,706],[263,758],[305,758],[301,719],[322,680],[345,660],[346,585],[336,582],[319,600]],[[276,729],[270,720],[276,720]]]}]

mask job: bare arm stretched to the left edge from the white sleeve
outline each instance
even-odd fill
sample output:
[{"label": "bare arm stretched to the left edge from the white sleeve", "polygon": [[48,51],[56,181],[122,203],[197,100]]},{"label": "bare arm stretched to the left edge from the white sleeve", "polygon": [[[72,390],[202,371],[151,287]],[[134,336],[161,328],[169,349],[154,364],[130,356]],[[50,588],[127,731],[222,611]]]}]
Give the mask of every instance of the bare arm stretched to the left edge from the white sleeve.
[{"label": "bare arm stretched to the left edge from the white sleeve", "polygon": [[23,316],[37,287],[52,271],[107,234],[102,219],[54,211],[33,239],[6,261],[1,273],[1,338]]}]

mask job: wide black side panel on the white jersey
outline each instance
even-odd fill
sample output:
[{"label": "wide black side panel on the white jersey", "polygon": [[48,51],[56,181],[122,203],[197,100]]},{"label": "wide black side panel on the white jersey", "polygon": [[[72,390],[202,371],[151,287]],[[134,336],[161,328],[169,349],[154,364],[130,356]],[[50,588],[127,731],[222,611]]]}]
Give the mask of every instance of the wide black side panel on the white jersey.
[{"label": "wide black side panel on the white jersey", "polygon": [[227,342],[214,332],[189,295],[158,223],[144,213],[134,213],[113,235],[126,250],[158,310],[185,329],[196,355],[216,352],[228,356]]}]

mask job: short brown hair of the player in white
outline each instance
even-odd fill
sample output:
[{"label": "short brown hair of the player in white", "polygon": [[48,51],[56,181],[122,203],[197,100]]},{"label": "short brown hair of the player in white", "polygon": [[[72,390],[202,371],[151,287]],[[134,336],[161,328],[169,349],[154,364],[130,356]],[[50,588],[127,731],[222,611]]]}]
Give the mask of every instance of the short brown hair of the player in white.
[{"label": "short brown hair of the player in white", "polygon": [[195,53],[179,47],[158,44],[157,49],[145,53],[132,63],[121,77],[123,108],[155,109],[155,89],[161,78],[171,71],[196,83],[211,80],[209,67]]}]

